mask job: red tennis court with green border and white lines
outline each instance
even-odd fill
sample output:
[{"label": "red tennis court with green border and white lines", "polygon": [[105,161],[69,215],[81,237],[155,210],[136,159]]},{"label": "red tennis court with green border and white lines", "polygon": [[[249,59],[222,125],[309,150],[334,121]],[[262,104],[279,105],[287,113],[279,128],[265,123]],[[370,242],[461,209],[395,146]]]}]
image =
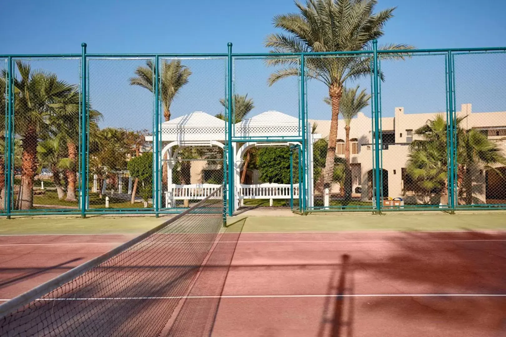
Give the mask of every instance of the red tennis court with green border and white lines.
[{"label": "red tennis court with green border and white lines", "polygon": [[[201,227],[213,216],[191,217],[18,310],[3,333],[45,335],[31,333],[37,325],[58,326],[51,335],[506,333],[504,213],[244,214],[216,233]],[[79,234],[62,225],[61,235],[57,225],[49,235],[4,227],[11,235],[0,237],[0,298],[137,237],[131,223],[144,220],[123,219],[124,230],[107,218],[85,220],[99,234],[93,226]],[[164,219],[146,221],[140,232]]]}]

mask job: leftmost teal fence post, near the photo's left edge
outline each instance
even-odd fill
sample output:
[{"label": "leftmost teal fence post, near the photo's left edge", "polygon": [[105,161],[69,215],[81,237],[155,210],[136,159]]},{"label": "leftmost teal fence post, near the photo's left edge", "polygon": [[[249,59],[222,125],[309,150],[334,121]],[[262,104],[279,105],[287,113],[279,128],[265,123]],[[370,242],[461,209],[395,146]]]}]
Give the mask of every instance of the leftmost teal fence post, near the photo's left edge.
[{"label": "leftmost teal fence post, near the photo's left edge", "polygon": [[8,73],[7,73],[7,116],[6,116],[6,181],[5,181],[5,210],[7,212],[7,219],[11,218],[11,210],[12,210],[12,172],[13,172],[13,161],[12,161],[12,142],[14,137],[12,136],[12,124],[13,124],[13,116],[14,116],[14,90],[13,90],[13,77],[14,77],[14,67],[12,64],[12,57],[8,59],[7,65]]}]

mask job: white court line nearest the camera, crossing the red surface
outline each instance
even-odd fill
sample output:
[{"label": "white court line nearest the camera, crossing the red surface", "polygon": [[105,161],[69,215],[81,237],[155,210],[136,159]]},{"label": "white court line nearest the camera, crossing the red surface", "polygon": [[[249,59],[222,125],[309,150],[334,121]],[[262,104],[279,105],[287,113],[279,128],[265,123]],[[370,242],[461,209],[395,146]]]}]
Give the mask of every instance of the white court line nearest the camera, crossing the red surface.
[{"label": "white court line nearest the camera, crossing the red surface", "polygon": [[[221,296],[144,296],[44,298],[34,301],[106,301],[106,300],[172,300],[172,299],[257,299],[257,298],[338,298],[338,297],[506,297],[506,294],[344,294],[344,295],[221,295]],[[0,301],[9,301],[0,299]]]}]

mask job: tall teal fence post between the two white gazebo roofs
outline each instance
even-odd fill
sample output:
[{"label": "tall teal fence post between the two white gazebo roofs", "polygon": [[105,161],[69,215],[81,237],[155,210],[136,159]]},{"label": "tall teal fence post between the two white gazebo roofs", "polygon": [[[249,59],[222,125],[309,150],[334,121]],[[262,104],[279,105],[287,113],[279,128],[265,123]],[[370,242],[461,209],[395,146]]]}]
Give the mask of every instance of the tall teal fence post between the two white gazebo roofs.
[{"label": "tall teal fence post between the two white gazebo roofs", "polygon": [[234,153],[232,149],[232,42],[227,43],[228,46],[228,78],[227,78],[227,91],[228,91],[228,114],[227,114],[227,153],[228,153],[228,215],[234,215]]}]

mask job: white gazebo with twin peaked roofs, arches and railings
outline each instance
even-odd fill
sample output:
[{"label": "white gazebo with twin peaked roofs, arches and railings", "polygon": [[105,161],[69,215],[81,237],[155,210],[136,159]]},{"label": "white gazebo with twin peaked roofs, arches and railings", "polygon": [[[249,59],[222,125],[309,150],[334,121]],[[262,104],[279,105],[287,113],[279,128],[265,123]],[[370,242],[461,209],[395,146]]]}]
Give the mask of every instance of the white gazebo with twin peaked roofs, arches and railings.
[{"label": "white gazebo with twin peaked roofs, arches and railings", "polygon": [[[267,111],[257,116],[244,119],[236,123],[233,134],[232,149],[234,154],[234,184],[235,203],[234,211],[244,199],[290,199],[299,198],[299,185],[290,184],[239,184],[242,158],[245,152],[252,147],[285,147],[300,145],[301,121],[278,111]],[[311,130],[308,124],[307,130]],[[167,165],[167,191],[165,192],[165,208],[175,206],[175,200],[199,200],[210,195],[220,184],[187,184],[173,183],[173,169],[179,152],[187,147],[224,149],[225,122],[201,111],[175,118],[161,123],[162,165]],[[308,132],[307,163],[307,200],[308,206],[313,206],[313,142],[321,138],[319,134]],[[244,140],[242,140],[244,139]],[[271,141],[275,139],[275,141]],[[151,136],[146,140],[152,141]],[[263,140],[263,141],[262,141]],[[266,141],[269,140],[269,141]],[[240,141],[240,142],[239,142]],[[241,145],[240,147],[238,147]],[[165,159],[166,158],[166,159]]]}]

